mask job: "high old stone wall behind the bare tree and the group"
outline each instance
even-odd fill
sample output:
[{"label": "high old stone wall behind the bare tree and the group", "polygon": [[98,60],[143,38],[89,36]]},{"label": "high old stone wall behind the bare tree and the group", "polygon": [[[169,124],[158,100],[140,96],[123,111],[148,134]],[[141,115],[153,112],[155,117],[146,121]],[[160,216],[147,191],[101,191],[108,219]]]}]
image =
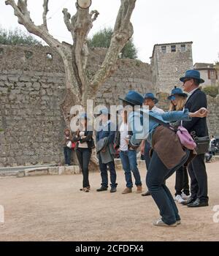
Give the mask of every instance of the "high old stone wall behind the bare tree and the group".
[{"label": "high old stone wall behind the bare tree and the group", "polygon": [[[88,72],[93,75],[106,54],[91,50]],[[61,163],[64,119],[64,66],[52,48],[0,45],[0,167]],[[150,65],[118,60],[118,70],[106,80],[95,104],[120,104],[130,89],[153,90]]]}]

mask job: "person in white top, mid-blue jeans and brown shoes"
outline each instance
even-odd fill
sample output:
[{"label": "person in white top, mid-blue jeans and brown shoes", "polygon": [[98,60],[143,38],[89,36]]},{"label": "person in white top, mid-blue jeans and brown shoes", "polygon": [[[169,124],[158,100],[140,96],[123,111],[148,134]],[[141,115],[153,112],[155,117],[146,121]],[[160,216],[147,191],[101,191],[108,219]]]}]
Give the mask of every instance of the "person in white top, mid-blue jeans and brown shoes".
[{"label": "person in white top, mid-blue jeans and brown shoes", "polygon": [[125,171],[126,178],[126,189],[123,190],[122,194],[128,194],[132,192],[132,178],[131,172],[135,178],[135,185],[137,186],[137,193],[142,193],[142,181],[137,167],[137,151],[128,145],[126,138],[128,135],[132,135],[132,132],[128,131],[127,124],[127,111],[122,110],[120,112],[122,123],[118,127],[118,131],[115,135],[115,149],[120,152],[120,159]]}]

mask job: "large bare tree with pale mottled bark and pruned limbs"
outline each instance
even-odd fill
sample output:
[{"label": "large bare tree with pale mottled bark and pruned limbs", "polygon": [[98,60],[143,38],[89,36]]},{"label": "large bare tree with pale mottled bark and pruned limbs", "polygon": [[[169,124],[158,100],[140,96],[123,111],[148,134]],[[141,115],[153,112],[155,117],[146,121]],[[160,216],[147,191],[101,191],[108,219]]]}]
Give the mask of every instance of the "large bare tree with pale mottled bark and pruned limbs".
[{"label": "large bare tree with pale mottled bark and pruned limbs", "polygon": [[73,105],[83,105],[85,107],[88,95],[95,95],[104,81],[115,71],[118,53],[120,53],[133,34],[133,26],[130,19],[136,0],[120,0],[120,9],[115,21],[110,48],[101,67],[92,78],[88,78],[86,72],[89,54],[87,37],[92,29],[93,22],[98,18],[99,12],[97,10],[90,12],[89,9],[82,9],[77,3],[75,15],[72,16],[67,9],[62,11],[64,23],[72,34],[74,42],[73,45],[69,45],[66,42],[59,42],[47,29],[48,2],[49,0],[43,1],[42,25],[40,26],[36,26],[31,20],[27,0],[18,0],[18,4],[14,0],[7,0],[5,4],[12,6],[15,15],[18,17],[18,23],[25,26],[31,34],[42,38],[50,47],[55,48],[63,59],[66,75],[66,96],[61,104],[61,109],[66,124],[69,125],[70,108]]}]

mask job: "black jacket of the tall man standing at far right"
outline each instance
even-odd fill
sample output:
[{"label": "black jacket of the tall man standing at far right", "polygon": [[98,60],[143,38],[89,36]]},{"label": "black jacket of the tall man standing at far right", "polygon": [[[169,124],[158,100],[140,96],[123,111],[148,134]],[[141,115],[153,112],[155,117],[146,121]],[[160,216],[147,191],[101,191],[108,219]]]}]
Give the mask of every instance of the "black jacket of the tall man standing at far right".
[{"label": "black jacket of the tall man standing at far right", "polygon": [[[195,112],[199,110],[199,108],[207,108],[206,94],[200,89],[197,89],[193,92],[191,97],[188,98],[188,101],[185,103],[185,108],[188,108],[189,112]],[[208,136],[206,117],[193,117],[191,121],[183,121],[183,127],[188,129],[188,132],[195,131],[198,137]]]}]

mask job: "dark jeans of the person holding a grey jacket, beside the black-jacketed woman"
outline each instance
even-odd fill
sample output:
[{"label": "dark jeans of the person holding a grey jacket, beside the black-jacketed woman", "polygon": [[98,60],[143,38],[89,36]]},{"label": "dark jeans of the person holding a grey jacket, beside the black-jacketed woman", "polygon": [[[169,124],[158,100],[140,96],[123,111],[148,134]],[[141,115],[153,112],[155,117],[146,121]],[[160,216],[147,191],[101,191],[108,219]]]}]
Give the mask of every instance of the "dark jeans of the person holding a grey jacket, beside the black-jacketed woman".
[{"label": "dark jeans of the person holding a grey jacket, beside the black-jacketed woman", "polygon": [[100,168],[100,172],[101,172],[101,186],[102,187],[108,187],[108,174],[107,174],[107,166],[110,169],[110,181],[111,187],[117,187],[117,183],[116,182],[116,172],[115,172],[115,162],[108,162],[107,164],[103,164],[101,161],[101,157],[99,157],[99,168]]}]

